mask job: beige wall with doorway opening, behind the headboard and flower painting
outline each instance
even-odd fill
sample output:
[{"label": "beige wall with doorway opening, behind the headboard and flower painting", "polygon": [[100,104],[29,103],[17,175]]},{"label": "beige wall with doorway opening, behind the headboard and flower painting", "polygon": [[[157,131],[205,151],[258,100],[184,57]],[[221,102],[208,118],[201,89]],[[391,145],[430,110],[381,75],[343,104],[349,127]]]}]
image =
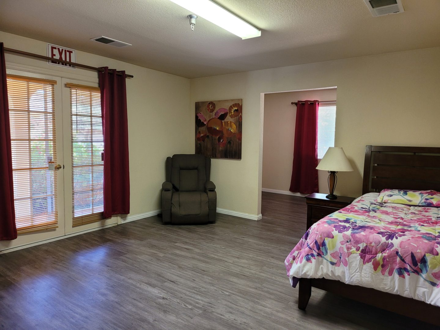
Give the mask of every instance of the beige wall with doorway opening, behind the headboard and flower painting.
[{"label": "beige wall with doorway opening, behind the headboard and flower painting", "polygon": [[243,99],[242,160],[213,160],[218,206],[259,214],[264,96],[337,86],[335,144],[353,172],[338,175],[336,194],[359,196],[365,146],[438,147],[440,48],[235,73],[191,80],[194,102]]}]

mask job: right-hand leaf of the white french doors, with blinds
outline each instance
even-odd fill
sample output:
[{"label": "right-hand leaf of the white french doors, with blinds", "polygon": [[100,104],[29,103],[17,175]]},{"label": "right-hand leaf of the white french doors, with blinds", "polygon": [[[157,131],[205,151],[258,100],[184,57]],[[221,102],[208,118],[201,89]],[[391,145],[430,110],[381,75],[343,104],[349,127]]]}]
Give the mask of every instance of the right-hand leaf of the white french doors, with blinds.
[{"label": "right-hand leaf of the white french doors, with blinds", "polygon": [[103,126],[98,84],[62,79],[66,234],[116,224],[103,217]]}]

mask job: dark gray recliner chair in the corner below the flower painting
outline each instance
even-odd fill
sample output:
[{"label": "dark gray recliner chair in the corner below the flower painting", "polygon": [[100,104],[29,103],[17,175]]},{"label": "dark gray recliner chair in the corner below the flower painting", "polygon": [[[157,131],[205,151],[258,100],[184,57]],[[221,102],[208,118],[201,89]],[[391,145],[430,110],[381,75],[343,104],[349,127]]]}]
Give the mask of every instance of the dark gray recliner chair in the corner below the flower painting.
[{"label": "dark gray recliner chair in the corner below the flower painting", "polygon": [[216,186],[209,180],[211,158],[177,154],[166,159],[166,181],[162,183],[164,224],[216,222]]}]

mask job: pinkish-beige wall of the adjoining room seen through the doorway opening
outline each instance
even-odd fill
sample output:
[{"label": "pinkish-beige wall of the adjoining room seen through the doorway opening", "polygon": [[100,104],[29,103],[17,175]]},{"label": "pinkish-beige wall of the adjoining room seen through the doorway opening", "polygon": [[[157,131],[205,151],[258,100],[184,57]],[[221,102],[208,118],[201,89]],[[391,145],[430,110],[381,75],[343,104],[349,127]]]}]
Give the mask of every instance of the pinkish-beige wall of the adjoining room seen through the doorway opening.
[{"label": "pinkish-beige wall of the adjoining room seen through the doorway opening", "polygon": [[[297,107],[290,103],[298,100],[336,100],[336,88],[264,95],[263,188],[289,191],[297,115]],[[321,193],[328,194],[327,176],[318,171]]]}]

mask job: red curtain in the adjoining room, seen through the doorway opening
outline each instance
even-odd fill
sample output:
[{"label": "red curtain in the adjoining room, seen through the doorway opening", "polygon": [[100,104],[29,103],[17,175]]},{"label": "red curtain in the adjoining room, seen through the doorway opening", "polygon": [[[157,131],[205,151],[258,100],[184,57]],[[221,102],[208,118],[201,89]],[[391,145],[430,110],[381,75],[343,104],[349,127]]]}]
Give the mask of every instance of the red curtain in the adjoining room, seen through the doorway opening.
[{"label": "red curtain in the adjoining room, seen through the doorway opening", "polygon": [[[304,102],[304,103],[303,103]],[[309,104],[309,102],[313,102]],[[293,144],[290,191],[318,192],[318,107],[319,101],[298,101]]]}]

